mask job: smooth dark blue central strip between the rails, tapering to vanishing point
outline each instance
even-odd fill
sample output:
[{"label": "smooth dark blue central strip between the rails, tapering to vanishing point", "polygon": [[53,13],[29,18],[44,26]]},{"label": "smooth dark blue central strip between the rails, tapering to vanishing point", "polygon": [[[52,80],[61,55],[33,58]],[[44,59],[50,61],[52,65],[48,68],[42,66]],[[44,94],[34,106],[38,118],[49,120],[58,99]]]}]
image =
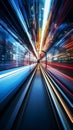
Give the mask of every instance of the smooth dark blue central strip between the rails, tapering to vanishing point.
[{"label": "smooth dark blue central strip between the rails, tapering to vanishing point", "polygon": [[[58,129],[58,125],[44,86],[45,84],[41,77],[40,70],[37,68],[26,107],[25,109],[23,107],[20,111],[13,129]],[[25,106],[25,103],[23,106]]]}]

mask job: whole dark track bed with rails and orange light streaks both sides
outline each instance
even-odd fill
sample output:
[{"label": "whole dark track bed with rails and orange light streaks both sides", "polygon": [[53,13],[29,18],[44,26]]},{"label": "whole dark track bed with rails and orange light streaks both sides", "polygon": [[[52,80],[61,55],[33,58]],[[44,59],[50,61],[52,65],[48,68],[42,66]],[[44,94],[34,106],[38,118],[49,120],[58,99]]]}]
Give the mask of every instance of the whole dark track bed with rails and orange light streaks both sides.
[{"label": "whole dark track bed with rails and orange light streaks both sides", "polygon": [[71,102],[40,64],[10,96],[0,104],[1,130],[72,130]]}]

